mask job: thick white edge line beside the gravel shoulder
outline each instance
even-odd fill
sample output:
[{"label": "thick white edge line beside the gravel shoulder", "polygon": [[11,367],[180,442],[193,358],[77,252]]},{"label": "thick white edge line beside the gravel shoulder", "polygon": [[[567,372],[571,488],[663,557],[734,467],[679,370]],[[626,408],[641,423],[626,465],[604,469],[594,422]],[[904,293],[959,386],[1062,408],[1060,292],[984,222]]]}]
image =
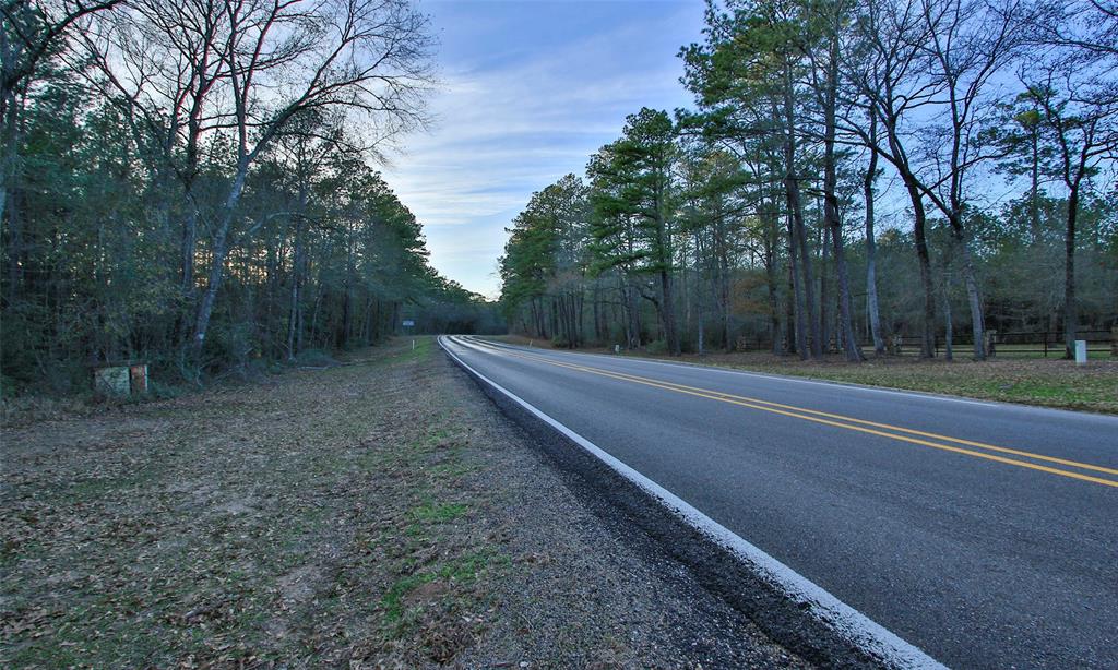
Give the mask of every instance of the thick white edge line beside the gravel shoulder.
[{"label": "thick white edge line beside the gravel shoulder", "polygon": [[471,374],[482,380],[494,390],[501,392],[510,400],[524,408],[537,419],[543,421],[559,433],[563,434],[572,442],[595,456],[607,466],[613,468],[618,475],[638,486],[651,495],[656,501],[666,507],[669,511],[680,517],[689,526],[707,536],[718,545],[727,548],[736,558],[748,565],[766,583],[777,587],[788,597],[798,602],[806,602],[811,605],[809,612],[825,626],[834,630],[841,638],[851,642],[856,648],[878,657],[897,668],[945,668],[942,663],[932,659],[918,647],[906,642],[899,635],[862,614],[854,607],[842,602],[822,586],[815,584],[807,577],[800,575],[787,565],[780,563],[773,556],[766,554],[759,547],[739,537],[726,526],[722,526],[705,514],[699,511],[690,504],[681,499],[675,494],[669,491],[655,481],[637,472],[614,456],[607,453],[597,444],[590,442],[582,436],[576,433],[562,423],[559,423],[536,406],[529,404],[520,396],[486,377],[479,371],[471,367],[465,361],[452,352],[444,343],[444,336],[438,338],[439,346],[443,347],[458,365],[468,370]]}]

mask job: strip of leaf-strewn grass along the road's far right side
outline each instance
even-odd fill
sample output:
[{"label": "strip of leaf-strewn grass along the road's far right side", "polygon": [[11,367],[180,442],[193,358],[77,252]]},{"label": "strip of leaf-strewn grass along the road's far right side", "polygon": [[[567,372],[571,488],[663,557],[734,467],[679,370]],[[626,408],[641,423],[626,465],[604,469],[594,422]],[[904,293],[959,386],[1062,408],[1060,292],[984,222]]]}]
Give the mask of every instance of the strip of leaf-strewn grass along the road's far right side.
[{"label": "strip of leaf-strewn grass along the road's far right side", "polygon": [[[503,339],[541,345],[539,339],[519,336]],[[608,353],[605,348],[586,351]],[[644,352],[622,355],[650,356]],[[885,356],[865,363],[846,363],[832,356],[827,361],[812,362],[760,352],[684,354],[679,360],[768,374],[1118,414],[1118,358],[1092,357],[1087,365],[1079,366],[1058,357],[1002,355],[1001,350],[996,358],[984,362],[969,361],[965,356],[966,353],[957,348],[956,360],[951,362],[942,358],[921,361],[915,356]]]}]

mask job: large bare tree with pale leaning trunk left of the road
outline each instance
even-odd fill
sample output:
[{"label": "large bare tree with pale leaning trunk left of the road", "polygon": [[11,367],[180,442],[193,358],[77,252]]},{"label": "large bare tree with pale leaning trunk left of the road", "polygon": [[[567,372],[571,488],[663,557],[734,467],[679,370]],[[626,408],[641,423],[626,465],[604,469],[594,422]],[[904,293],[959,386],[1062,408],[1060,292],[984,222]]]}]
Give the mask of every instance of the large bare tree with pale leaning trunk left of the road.
[{"label": "large bare tree with pale leaning trunk left of the road", "polygon": [[[432,83],[428,21],[406,0],[138,0],[122,13],[95,23],[89,45],[120,99],[164,138],[188,193],[198,147],[228,146],[207,226],[209,268],[192,318],[197,356],[254,162],[304,112],[360,117],[362,145],[372,153],[423,126]],[[121,35],[122,23],[129,36]],[[182,245],[188,288],[197,216],[190,202]]]}]

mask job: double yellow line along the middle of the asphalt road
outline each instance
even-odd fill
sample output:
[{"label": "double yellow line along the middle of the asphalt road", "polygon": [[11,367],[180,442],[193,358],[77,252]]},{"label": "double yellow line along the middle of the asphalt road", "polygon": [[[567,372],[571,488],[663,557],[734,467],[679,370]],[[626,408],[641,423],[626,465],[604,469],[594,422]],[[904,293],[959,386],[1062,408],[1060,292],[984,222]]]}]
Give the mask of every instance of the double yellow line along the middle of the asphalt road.
[{"label": "double yellow line along the middle of the asphalt road", "polygon": [[[1055,458],[1052,456],[1033,453],[1031,451],[1010,449],[1007,447],[997,447],[995,444],[987,444],[985,442],[975,442],[973,440],[963,440],[959,438],[951,438],[948,436],[941,436],[938,433],[903,428],[900,425],[891,425],[889,423],[879,423],[877,421],[866,421],[864,419],[844,417],[842,414],[834,414],[831,412],[821,412],[818,410],[797,408],[795,405],[770,402],[757,398],[748,398],[743,395],[735,395],[732,393],[722,393],[720,391],[712,391],[710,389],[688,386],[685,384],[676,384],[674,382],[666,382],[663,380],[655,380],[651,377],[638,376],[635,374],[603,370],[600,367],[591,367],[589,365],[562,363],[559,361],[552,361],[543,356],[523,354],[508,348],[498,347],[492,344],[477,339],[472,339],[471,344],[485,347],[499,354],[513,356],[517,358],[523,358],[527,361],[533,361],[537,363],[546,363],[548,365],[553,365],[556,367],[566,367],[568,370],[574,370],[577,372],[584,372],[588,374],[595,374],[598,376],[609,377],[623,382],[629,382],[633,384],[653,386],[655,389],[663,389],[665,391],[682,393],[684,395],[694,395],[697,398],[704,398],[708,400],[714,400],[718,402],[735,404],[743,408],[749,408],[751,410],[759,410],[761,412],[770,412],[774,414],[780,414],[783,417],[790,417],[793,419],[802,419],[804,421],[822,423],[824,425],[831,425],[834,428],[842,428],[845,430],[852,430],[882,438],[889,438],[891,440],[899,440],[901,442],[909,442],[911,444],[919,444],[921,447],[930,447],[932,449],[950,451],[953,453],[961,453],[964,456],[996,461],[1008,466],[1016,466],[1018,468],[1029,468],[1031,470],[1039,470],[1041,472],[1048,472],[1050,475],[1058,475],[1060,477],[1070,477],[1072,479],[1079,479],[1082,481],[1090,481],[1093,484],[1101,484],[1103,486],[1118,488],[1118,479],[1109,479],[1106,477],[1098,477],[1095,475],[1086,475],[1083,472],[1077,472],[1074,470],[1065,470],[1043,463],[1054,463],[1068,468],[1074,468],[1077,470],[1087,470],[1090,472],[1099,472],[1110,477],[1118,477],[1118,469],[1114,468],[1092,466],[1090,463],[1082,463],[1079,461]],[[976,449],[980,449],[982,451],[976,451]],[[1001,456],[1001,454],[1008,454],[1008,456]],[[1010,458],[1010,456],[1017,458]],[[1025,458],[1029,460],[1020,460],[1021,458]],[[1034,461],[1041,461],[1041,462],[1034,462]]]}]

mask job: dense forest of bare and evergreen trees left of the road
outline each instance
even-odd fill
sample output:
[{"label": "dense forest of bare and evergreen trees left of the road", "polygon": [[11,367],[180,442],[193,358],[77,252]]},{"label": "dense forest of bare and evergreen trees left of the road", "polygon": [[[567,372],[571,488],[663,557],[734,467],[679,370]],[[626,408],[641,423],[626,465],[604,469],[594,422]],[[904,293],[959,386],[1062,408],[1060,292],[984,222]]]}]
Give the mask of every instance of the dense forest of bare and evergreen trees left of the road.
[{"label": "dense forest of bare and evergreen trees left of the road", "polygon": [[492,328],[371,169],[426,122],[402,0],[2,0],[6,392]]}]

